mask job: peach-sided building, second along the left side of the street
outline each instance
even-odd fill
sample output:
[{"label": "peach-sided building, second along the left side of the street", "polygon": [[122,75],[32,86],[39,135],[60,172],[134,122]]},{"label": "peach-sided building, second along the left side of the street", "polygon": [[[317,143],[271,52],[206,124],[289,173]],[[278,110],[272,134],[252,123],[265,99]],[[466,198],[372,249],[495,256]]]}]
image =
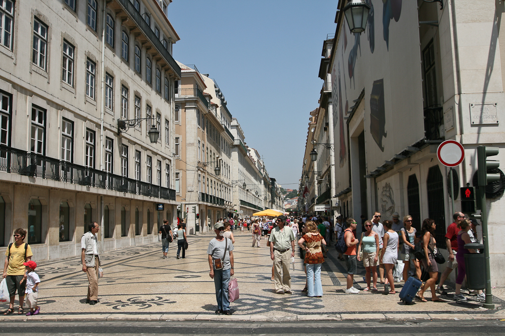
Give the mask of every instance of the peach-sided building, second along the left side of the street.
[{"label": "peach-sided building, second along the left side of the street", "polygon": [[175,83],[176,192],[188,233],[212,231],[231,209],[231,114],[217,84],[182,64]]}]

